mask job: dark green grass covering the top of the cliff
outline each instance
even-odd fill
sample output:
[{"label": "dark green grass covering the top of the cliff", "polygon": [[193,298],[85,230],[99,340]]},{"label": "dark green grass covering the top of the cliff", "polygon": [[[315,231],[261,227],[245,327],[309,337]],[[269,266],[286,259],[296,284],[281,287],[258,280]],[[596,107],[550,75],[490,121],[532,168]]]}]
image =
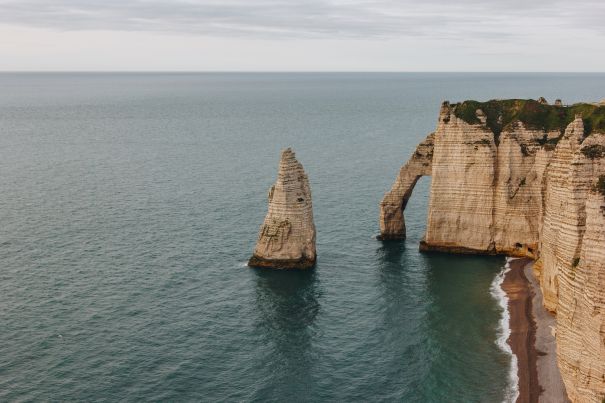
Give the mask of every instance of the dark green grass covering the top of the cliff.
[{"label": "dark green grass covering the top of the cliff", "polygon": [[455,115],[469,124],[480,123],[476,111],[481,109],[487,118],[487,126],[496,135],[516,121],[534,130],[550,132],[558,130],[561,134],[576,114],[582,115],[584,134],[605,133],[605,106],[593,104],[574,104],[570,106],[544,105],[533,99],[504,99],[487,102],[464,101],[454,104]]}]

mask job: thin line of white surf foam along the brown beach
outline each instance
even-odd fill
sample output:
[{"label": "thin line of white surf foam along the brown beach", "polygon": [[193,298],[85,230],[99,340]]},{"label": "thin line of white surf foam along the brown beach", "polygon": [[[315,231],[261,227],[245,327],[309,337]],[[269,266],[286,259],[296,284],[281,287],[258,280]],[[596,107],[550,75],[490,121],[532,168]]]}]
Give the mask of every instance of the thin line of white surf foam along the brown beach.
[{"label": "thin line of white surf foam along the brown beach", "polygon": [[492,285],[490,287],[490,293],[494,299],[502,308],[502,316],[498,326],[498,337],[496,338],[496,344],[502,351],[509,354],[510,369],[508,372],[508,390],[504,396],[504,402],[515,402],[519,396],[519,374],[518,374],[518,363],[517,356],[513,353],[508,343],[508,337],[510,336],[510,312],[508,311],[508,296],[502,289],[502,282],[504,276],[510,271],[510,261],[512,258],[506,258],[506,264],[500,273],[496,275]]}]

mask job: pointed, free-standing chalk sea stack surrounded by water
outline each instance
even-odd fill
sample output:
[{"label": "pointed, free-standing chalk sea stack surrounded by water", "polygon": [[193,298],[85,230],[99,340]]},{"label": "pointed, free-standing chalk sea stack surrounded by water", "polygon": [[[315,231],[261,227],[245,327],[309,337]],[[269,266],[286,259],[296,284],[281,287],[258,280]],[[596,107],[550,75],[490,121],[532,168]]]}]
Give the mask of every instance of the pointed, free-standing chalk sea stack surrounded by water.
[{"label": "pointed, free-standing chalk sea stack surrounded by water", "polygon": [[315,260],[311,187],[303,166],[288,148],[282,151],[277,181],[269,190],[269,211],[248,266],[307,269]]}]

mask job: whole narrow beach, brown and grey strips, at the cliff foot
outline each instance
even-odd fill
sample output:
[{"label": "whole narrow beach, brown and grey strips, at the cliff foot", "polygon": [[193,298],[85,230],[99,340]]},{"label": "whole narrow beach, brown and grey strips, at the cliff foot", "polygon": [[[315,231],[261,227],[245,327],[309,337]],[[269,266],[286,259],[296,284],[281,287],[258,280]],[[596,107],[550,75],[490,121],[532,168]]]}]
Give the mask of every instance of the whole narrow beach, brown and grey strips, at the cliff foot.
[{"label": "whole narrow beach, brown and grey strips, at the cliff foot", "polygon": [[567,403],[557,365],[555,317],[542,304],[542,292],[528,258],[507,259],[502,289],[508,297],[510,335],[517,361],[517,402]]}]

